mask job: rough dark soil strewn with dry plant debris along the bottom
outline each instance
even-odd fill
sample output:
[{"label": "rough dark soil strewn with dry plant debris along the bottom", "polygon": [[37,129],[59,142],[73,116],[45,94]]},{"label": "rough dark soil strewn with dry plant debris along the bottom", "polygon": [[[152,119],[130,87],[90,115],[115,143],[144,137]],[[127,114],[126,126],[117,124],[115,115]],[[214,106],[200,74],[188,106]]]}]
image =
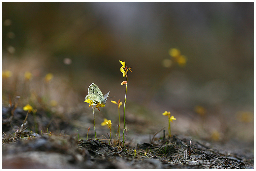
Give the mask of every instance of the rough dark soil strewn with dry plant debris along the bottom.
[{"label": "rough dark soil strewn with dry plant debris along the bottom", "polygon": [[2,149],[2,169],[254,168],[254,156],[227,153],[210,144],[175,135],[122,149],[100,140],[43,135],[3,144]]}]

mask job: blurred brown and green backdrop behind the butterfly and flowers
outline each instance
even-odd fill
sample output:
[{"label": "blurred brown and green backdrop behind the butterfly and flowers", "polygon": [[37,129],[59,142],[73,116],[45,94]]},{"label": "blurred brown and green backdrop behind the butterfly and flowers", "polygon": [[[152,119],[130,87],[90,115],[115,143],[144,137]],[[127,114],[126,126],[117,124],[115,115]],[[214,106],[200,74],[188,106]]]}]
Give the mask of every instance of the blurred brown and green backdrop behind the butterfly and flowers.
[{"label": "blurred brown and green backdrop behind the butterfly and flowers", "polygon": [[[84,103],[91,83],[124,102],[122,60],[132,68],[131,130],[167,129],[162,113],[170,111],[174,134],[253,142],[254,2],[1,3],[2,72],[12,72],[2,76],[2,105],[19,95],[20,107],[39,109],[33,99],[42,97],[71,120],[74,111],[91,117]],[[164,67],[173,61],[171,48],[186,56],[186,66]],[[47,73],[54,75],[49,85],[42,81]],[[116,115],[109,99],[99,116]]]}]

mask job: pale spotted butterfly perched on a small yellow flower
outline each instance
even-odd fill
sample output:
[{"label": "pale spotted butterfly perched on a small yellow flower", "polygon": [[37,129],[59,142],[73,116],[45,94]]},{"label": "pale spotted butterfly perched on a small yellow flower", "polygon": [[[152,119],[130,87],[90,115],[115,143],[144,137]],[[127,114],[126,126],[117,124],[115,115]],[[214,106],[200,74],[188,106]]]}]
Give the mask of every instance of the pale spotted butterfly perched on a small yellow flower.
[{"label": "pale spotted butterfly perched on a small yellow flower", "polygon": [[106,104],[107,97],[109,92],[107,92],[104,96],[102,92],[100,91],[99,87],[92,83],[88,88],[88,95],[85,96],[85,99],[91,99],[93,103],[103,103]]}]

